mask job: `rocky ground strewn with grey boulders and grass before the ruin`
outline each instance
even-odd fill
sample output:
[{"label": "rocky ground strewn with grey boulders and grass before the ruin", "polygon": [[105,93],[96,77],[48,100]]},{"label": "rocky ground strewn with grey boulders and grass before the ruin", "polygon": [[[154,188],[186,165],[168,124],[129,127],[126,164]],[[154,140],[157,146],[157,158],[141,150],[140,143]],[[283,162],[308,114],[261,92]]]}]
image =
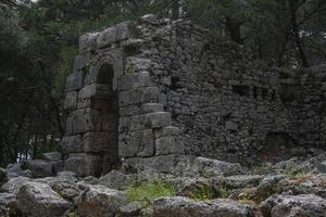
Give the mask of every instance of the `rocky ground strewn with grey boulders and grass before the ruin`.
[{"label": "rocky ground strewn with grey boulders and grass before the ruin", "polygon": [[195,156],[134,159],[100,178],[49,168],[1,168],[0,216],[326,217],[326,153],[252,168]]}]

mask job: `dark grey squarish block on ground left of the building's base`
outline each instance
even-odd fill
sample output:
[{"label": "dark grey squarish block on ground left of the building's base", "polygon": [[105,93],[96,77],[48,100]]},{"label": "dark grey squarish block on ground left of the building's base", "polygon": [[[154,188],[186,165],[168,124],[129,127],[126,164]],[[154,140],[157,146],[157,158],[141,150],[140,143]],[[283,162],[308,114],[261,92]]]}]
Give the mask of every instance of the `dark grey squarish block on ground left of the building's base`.
[{"label": "dark grey squarish block on ground left of the building's base", "polygon": [[42,178],[53,175],[51,163],[42,159],[27,161],[24,163],[24,168],[32,171],[33,178]]}]

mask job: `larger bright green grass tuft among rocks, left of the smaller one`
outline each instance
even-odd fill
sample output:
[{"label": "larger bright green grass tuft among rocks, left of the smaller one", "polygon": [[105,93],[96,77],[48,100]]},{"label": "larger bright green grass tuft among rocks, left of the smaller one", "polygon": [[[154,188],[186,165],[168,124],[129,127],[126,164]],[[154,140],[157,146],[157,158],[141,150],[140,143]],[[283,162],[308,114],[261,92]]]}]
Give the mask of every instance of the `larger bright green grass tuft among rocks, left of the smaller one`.
[{"label": "larger bright green grass tuft among rocks, left of the smaller one", "polygon": [[155,199],[174,196],[176,192],[172,184],[155,180],[146,183],[134,183],[127,189],[127,194],[130,201],[143,202],[149,206]]}]

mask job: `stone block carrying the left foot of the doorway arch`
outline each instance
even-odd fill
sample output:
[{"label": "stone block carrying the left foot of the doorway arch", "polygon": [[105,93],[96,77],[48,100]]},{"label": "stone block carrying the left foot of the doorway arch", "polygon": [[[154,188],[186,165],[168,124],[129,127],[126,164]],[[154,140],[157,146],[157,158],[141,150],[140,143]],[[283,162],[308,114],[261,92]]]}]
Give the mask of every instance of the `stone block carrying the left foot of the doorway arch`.
[{"label": "stone block carrying the left foot of the doorway arch", "polygon": [[112,93],[112,90],[106,85],[92,84],[78,91],[78,101],[90,99],[91,97],[109,97],[110,92]]}]

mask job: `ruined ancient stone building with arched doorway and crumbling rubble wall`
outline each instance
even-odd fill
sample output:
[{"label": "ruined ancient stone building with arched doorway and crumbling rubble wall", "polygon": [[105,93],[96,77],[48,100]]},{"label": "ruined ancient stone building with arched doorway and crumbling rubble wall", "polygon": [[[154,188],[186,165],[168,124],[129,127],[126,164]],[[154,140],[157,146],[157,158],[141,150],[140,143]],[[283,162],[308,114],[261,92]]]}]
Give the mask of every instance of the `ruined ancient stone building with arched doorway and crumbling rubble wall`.
[{"label": "ruined ancient stone building with arched doorway and crumbling rubble wall", "polygon": [[186,20],[146,15],[86,34],[66,79],[65,164],[86,176],[122,158],[253,163],[288,148],[325,146],[324,80],[281,79]]}]

